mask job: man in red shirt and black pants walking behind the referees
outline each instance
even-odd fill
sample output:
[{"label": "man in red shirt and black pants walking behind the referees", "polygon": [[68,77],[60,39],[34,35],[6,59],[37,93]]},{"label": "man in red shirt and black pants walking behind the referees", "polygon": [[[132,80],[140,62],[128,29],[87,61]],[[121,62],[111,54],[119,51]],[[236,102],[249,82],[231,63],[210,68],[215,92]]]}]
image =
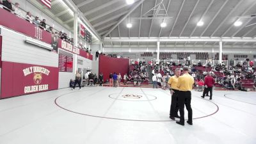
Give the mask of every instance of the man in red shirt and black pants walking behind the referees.
[{"label": "man in red shirt and black pants walking behind the referees", "polygon": [[209,74],[209,72],[207,73],[207,76],[204,78],[204,93],[203,96],[201,96],[202,98],[205,97],[205,94],[210,92],[210,100],[212,99],[212,87],[214,84],[214,78]]}]

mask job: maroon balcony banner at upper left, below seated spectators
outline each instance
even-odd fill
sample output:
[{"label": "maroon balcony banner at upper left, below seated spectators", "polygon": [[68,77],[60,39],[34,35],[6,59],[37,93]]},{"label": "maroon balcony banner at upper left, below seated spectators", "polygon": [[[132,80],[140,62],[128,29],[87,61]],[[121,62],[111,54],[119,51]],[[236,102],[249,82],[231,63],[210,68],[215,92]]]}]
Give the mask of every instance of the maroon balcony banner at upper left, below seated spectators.
[{"label": "maroon balcony banner at upper left, below seated spectators", "polygon": [[[0,25],[5,26],[6,28],[10,28],[13,31],[17,31],[23,33],[24,35],[46,42],[47,44],[51,44],[51,33],[45,31],[44,29],[36,27],[35,24],[31,24],[27,20],[22,19],[17,15],[14,15],[13,13],[10,13],[2,8],[0,8],[0,17]],[[8,19],[4,19],[4,17]]]}]

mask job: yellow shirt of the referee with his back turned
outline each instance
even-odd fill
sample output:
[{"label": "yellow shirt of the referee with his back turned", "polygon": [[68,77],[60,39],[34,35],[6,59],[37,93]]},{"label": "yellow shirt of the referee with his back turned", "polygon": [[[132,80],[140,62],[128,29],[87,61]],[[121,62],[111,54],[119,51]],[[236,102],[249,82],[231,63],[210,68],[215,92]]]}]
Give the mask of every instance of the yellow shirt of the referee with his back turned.
[{"label": "yellow shirt of the referee with his back turned", "polygon": [[194,83],[194,78],[190,74],[183,74],[178,78],[177,87],[180,91],[191,91]]}]

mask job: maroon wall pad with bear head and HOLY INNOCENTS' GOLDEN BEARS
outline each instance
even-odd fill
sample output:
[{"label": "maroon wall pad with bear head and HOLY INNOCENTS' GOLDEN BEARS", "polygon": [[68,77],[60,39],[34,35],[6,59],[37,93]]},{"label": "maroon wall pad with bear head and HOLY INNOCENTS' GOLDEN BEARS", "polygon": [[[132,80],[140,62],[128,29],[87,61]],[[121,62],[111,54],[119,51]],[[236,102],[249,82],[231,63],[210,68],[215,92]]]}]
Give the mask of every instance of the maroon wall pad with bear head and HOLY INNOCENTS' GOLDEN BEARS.
[{"label": "maroon wall pad with bear head and HOLY INNOCENTS' GOLDEN BEARS", "polygon": [[1,99],[58,89],[58,67],[3,61]]}]

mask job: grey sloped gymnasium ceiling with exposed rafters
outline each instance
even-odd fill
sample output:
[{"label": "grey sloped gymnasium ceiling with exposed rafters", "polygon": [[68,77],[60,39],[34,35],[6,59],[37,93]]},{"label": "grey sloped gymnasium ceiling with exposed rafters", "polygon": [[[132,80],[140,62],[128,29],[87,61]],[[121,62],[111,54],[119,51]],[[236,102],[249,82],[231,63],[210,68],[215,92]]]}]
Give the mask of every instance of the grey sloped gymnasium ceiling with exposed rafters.
[{"label": "grey sloped gymnasium ceiling with exposed rafters", "polygon": [[[55,13],[64,24],[73,26],[72,18],[64,13],[59,4],[52,0]],[[241,17],[256,13],[255,0],[163,0],[168,19],[138,19],[162,0],[135,0],[128,5],[125,0],[69,0],[76,4],[102,38],[170,38],[170,37],[256,37],[256,17]],[[140,4],[141,3],[141,4]],[[163,9],[163,5],[160,7]],[[63,12],[62,15],[61,12]],[[147,14],[156,14],[151,10]],[[160,10],[159,14],[164,14]],[[129,16],[128,16],[129,15]],[[160,16],[158,16],[160,17]],[[172,18],[170,18],[172,17]],[[203,26],[196,26],[203,21]],[[132,28],[127,28],[130,21]],[[241,21],[241,26],[234,26]],[[161,28],[161,22],[166,27]],[[254,24],[252,26],[248,26]],[[156,42],[104,42],[104,47],[140,47]],[[161,42],[161,45],[218,45],[218,42]],[[256,42],[225,42],[225,45],[256,47]]]}]

